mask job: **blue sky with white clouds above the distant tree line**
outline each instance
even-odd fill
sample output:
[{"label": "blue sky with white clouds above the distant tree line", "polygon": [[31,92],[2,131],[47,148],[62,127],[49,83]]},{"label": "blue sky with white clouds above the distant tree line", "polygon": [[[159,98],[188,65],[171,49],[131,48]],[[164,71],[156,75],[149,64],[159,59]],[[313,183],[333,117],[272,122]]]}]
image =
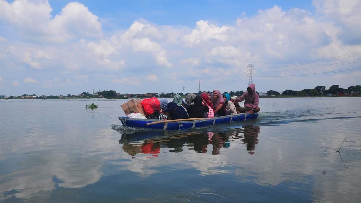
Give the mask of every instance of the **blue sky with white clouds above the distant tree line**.
[{"label": "blue sky with white clouds above the distant tree line", "polygon": [[361,85],[358,0],[0,0],[0,95]]}]

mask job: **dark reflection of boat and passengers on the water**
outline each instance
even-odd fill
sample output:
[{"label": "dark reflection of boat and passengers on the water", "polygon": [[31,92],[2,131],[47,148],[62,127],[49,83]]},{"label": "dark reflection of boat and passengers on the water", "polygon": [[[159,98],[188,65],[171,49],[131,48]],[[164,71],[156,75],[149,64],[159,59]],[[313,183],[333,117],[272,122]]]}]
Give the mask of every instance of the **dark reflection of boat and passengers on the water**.
[{"label": "dark reflection of boat and passengers on the water", "polygon": [[[160,151],[180,153],[184,149],[194,150],[197,153],[219,154],[221,148],[230,147],[232,143],[240,144],[239,142],[245,145],[247,153],[254,154],[258,144],[258,134],[260,134],[260,127],[257,125],[245,125],[242,128],[221,132],[148,131],[122,133],[119,144],[122,144],[122,150],[132,158],[140,153],[147,154],[145,158],[155,158],[158,157]],[[161,150],[161,148],[168,149]]]}]

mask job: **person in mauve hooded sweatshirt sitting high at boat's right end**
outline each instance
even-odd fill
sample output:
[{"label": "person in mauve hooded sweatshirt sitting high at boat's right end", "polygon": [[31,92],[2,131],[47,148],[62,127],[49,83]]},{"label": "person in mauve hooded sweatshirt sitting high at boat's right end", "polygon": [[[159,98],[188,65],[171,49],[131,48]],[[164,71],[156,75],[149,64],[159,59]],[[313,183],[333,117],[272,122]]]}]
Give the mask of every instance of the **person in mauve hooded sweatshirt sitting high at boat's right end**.
[{"label": "person in mauve hooded sweatshirt sitting high at boat's right end", "polygon": [[247,87],[247,92],[243,93],[242,96],[235,99],[238,102],[242,102],[244,100],[244,107],[240,107],[241,113],[256,113],[260,111],[260,107],[258,107],[258,94],[256,92],[256,85],[250,84]]}]

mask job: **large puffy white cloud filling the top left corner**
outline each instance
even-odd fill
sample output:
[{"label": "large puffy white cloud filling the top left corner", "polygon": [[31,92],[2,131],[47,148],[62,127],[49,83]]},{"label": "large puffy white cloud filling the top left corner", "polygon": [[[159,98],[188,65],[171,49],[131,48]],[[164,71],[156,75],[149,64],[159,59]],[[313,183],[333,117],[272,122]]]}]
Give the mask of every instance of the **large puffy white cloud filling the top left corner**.
[{"label": "large puffy white cloud filling the top left corner", "polygon": [[48,1],[0,0],[0,19],[18,29],[25,39],[64,42],[81,37],[101,37],[98,17],[81,3],[71,2],[51,16]]}]

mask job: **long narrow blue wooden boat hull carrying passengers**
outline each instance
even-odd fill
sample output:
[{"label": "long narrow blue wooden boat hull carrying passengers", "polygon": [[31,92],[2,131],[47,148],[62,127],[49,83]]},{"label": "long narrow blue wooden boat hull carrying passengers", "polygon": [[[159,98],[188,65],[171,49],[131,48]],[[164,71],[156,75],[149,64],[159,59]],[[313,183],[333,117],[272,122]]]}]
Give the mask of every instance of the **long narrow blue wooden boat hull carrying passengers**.
[{"label": "long narrow blue wooden boat hull carrying passengers", "polygon": [[126,116],[119,116],[119,120],[126,127],[137,127],[137,128],[151,128],[151,129],[164,129],[164,130],[181,130],[190,128],[201,128],[217,124],[225,124],[232,122],[242,122],[245,120],[257,119],[258,113],[242,113],[235,115],[219,116],[216,118],[205,118],[200,120],[192,121],[177,121],[169,123],[157,123],[153,125],[147,125],[147,123],[157,122],[155,119],[137,119],[128,118]]}]

